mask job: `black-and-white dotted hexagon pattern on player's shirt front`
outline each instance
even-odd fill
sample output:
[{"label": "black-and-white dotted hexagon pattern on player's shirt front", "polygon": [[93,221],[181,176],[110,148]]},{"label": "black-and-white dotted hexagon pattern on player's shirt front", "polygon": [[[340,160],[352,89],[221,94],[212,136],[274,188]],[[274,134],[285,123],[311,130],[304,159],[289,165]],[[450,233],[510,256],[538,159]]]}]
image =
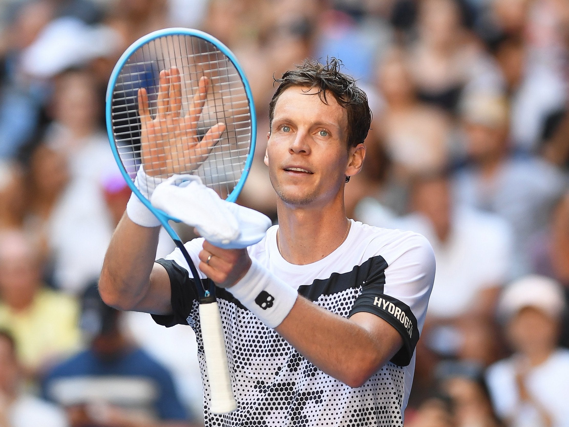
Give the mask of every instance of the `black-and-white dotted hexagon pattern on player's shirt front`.
[{"label": "black-and-white dotted hexagon pattern on player's shirt front", "polygon": [[[316,303],[347,317],[360,289],[322,295]],[[209,412],[209,384],[197,303],[188,323],[197,331],[208,426],[398,426],[403,425],[403,368],[386,364],[362,387],[351,388],[308,362],[248,310],[219,301],[233,392],[238,409]]]}]

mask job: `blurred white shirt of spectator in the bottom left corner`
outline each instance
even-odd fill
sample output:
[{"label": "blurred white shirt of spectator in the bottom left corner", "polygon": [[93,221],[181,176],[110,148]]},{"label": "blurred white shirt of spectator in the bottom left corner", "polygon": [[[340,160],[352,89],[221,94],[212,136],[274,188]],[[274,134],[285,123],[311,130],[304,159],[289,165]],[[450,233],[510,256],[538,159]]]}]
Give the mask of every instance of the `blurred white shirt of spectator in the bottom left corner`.
[{"label": "blurred white shirt of spectator in the bottom left corner", "polygon": [[34,396],[18,397],[10,409],[12,427],[67,427],[63,410]]}]

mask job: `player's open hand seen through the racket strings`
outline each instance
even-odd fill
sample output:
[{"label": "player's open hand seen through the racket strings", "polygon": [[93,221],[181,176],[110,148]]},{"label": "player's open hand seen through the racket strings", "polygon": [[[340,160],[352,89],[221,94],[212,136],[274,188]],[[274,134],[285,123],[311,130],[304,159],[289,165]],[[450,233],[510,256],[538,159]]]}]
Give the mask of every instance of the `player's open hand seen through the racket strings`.
[{"label": "player's open hand seen through the racket strings", "polygon": [[197,123],[209,87],[209,79],[201,77],[188,113],[182,116],[180,71],[176,67],[163,69],[160,72],[155,118],[150,114],[146,89],[138,90],[142,163],[148,175],[190,173],[207,159],[225,130],[225,124],[218,123],[203,138],[197,136]]}]

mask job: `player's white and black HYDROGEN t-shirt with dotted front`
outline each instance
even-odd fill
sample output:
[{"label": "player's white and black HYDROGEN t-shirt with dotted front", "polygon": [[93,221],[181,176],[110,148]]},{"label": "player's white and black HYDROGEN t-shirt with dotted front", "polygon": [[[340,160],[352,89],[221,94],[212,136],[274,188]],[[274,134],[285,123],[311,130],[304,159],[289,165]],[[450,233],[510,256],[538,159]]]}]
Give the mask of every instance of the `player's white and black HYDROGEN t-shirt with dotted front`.
[{"label": "player's white and black HYDROGEN t-shirt with dotted front", "polygon": [[[196,332],[204,382],[206,425],[402,426],[415,366],[415,345],[422,330],[435,274],[428,241],[413,232],[372,227],[352,221],[347,239],[320,261],[294,265],[277,248],[278,226],[249,247],[249,254],[299,293],[342,317],[359,311],[389,322],[403,347],[362,387],[351,388],[325,374],[273,329],[259,322],[228,291],[217,290],[238,409],[209,412],[209,385],[203,355],[198,304],[188,266],[179,249],[159,260],[170,276],[170,316],[165,326],[188,324]],[[203,239],[185,244],[196,265]],[[310,327],[310,325],[307,325]]]}]

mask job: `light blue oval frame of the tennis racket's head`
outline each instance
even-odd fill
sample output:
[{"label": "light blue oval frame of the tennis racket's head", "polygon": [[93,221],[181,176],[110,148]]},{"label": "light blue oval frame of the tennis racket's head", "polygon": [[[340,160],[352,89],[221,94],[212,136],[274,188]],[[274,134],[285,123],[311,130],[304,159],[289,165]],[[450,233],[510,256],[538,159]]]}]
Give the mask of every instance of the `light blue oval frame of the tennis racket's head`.
[{"label": "light blue oval frame of the tennis racket's head", "polygon": [[[122,54],[121,58],[119,58],[119,60],[117,61],[117,64],[114,66],[113,72],[111,73],[109,79],[109,85],[107,86],[107,91],[106,91],[105,121],[107,126],[107,134],[109,137],[110,147],[113,150],[113,155],[115,160],[117,161],[119,169],[121,170],[121,174],[123,178],[125,178],[126,183],[130,187],[130,189],[134,192],[135,195],[137,195],[137,197],[141,200],[141,202],[145,204],[145,206],[149,208],[149,210],[152,213],[154,213],[156,218],[158,218],[160,223],[162,223],[164,229],[166,229],[168,234],[172,237],[172,239],[176,242],[176,244],[178,244],[178,242],[180,241],[180,237],[178,236],[178,233],[176,233],[174,228],[172,228],[171,225],[168,224],[168,220],[172,220],[177,223],[181,221],[178,218],[168,215],[166,212],[152,206],[150,200],[146,199],[145,196],[143,196],[141,192],[138,190],[138,188],[134,185],[134,181],[130,178],[129,173],[126,171],[125,166],[122,164],[122,159],[118,154],[117,144],[113,136],[113,122],[112,122],[113,88],[114,85],[117,83],[117,79],[121,73],[122,68],[124,67],[126,62],[130,59],[130,57],[134,54],[134,52],[136,52],[141,46],[150,42],[151,40],[158,39],[160,37],[168,35],[188,35],[188,36],[199,37],[216,46],[222,52],[222,54],[227,56],[229,60],[232,61],[245,87],[245,92],[247,94],[247,100],[249,103],[249,111],[251,114],[251,143],[249,146],[249,154],[246,158],[245,167],[241,174],[241,177],[237,182],[236,186],[233,188],[232,192],[230,192],[230,194],[226,198],[228,202],[235,202],[237,200],[237,197],[240,194],[241,189],[245,184],[245,180],[249,175],[249,170],[251,169],[251,163],[253,163],[253,155],[255,153],[255,142],[257,142],[257,116],[255,114],[253,93],[251,92],[249,81],[247,80],[247,77],[245,76],[245,72],[241,68],[241,65],[239,65],[239,63],[237,62],[237,58],[235,57],[235,55],[233,55],[233,52],[230,51],[227,46],[225,46],[225,44],[221,43],[220,40],[217,40],[212,35],[207,34],[207,32],[195,30],[193,28],[182,28],[182,27],[172,27],[172,28],[164,28],[163,30],[157,30],[139,38],[136,42],[131,44],[129,48],[127,48],[125,53]],[[178,245],[178,247],[180,246]]]}]

